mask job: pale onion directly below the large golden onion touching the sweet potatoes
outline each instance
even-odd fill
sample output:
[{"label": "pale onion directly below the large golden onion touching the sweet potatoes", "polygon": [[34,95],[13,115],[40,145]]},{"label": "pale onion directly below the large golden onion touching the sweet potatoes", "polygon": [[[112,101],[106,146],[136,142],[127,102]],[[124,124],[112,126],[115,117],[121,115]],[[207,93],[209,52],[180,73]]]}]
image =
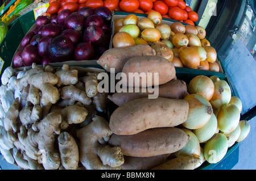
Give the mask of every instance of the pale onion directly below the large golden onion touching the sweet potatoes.
[{"label": "pale onion directly below the large golden onion touching the sweet potatoes", "polygon": [[193,133],[196,134],[199,142],[202,143],[208,141],[215,134],[217,127],[217,118],[214,114],[212,114],[207,124],[199,129],[193,129]]}]

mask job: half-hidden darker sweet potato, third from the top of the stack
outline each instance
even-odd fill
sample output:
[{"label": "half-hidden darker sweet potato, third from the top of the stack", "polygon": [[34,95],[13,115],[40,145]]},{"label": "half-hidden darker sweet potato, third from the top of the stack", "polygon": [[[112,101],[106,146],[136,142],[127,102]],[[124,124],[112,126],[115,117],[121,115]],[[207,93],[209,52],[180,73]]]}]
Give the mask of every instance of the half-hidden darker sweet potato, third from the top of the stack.
[{"label": "half-hidden darker sweet potato, third from the top of the stack", "polygon": [[[184,81],[179,79],[172,79],[171,81],[160,85],[158,88],[159,97],[170,99],[183,99],[187,94],[187,86]],[[124,103],[133,99],[146,98],[148,95],[154,94],[154,92],[115,92],[113,95],[109,95],[108,98],[117,106],[121,106]]]}]

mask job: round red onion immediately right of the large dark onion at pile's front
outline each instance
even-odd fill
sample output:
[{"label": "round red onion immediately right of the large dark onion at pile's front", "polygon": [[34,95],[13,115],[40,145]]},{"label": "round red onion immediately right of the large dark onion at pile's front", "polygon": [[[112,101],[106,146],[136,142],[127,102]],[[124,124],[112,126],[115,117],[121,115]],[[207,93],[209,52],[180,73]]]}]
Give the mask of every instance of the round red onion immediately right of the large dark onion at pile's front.
[{"label": "round red onion immediately right of the large dark onion at pile's front", "polygon": [[94,49],[89,43],[82,42],[78,44],[74,50],[75,60],[92,60],[94,56]]}]

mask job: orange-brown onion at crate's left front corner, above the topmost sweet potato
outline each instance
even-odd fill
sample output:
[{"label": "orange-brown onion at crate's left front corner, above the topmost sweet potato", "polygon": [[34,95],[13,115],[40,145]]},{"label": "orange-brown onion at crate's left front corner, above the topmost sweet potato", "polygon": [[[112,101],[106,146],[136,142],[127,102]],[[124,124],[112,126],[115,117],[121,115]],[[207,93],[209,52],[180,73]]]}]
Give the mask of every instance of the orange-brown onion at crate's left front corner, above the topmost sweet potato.
[{"label": "orange-brown onion at crate's left front corner, above the topmost sweet potato", "polygon": [[130,47],[135,45],[133,37],[127,32],[118,32],[113,37],[113,47]]}]

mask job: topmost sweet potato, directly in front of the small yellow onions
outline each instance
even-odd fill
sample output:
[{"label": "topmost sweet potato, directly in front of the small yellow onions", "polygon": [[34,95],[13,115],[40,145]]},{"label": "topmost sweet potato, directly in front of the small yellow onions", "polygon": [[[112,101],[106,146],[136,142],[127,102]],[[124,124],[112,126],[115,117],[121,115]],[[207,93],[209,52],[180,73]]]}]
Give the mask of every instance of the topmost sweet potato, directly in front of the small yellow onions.
[{"label": "topmost sweet potato, directly in front of the small yellow onions", "polygon": [[155,50],[149,45],[134,45],[125,48],[112,48],[106,50],[97,63],[100,64],[106,71],[110,71],[110,68],[115,68],[115,73],[122,71],[123,65],[131,57],[135,56],[154,56]]}]

